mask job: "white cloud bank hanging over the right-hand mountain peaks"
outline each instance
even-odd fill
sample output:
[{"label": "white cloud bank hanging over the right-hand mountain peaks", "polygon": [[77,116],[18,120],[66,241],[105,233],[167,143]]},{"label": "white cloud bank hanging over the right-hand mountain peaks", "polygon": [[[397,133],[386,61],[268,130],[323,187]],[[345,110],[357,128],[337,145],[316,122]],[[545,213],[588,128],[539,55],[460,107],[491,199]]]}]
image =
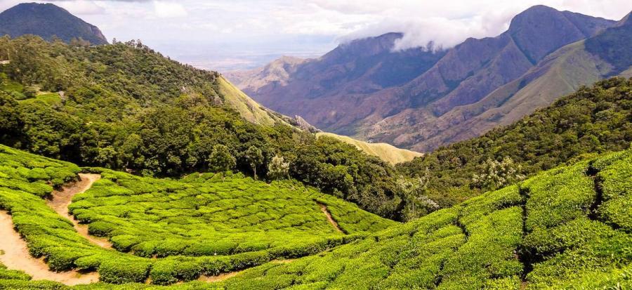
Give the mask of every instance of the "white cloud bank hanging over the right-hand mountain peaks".
[{"label": "white cloud bank hanging over the right-hand mountain peaks", "polygon": [[514,15],[538,4],[614,20],[632,9],[628,0],[352,0],[343,5],[334,0],[315,1],[321,7],[341,13],[372,13],[379,19],[339,37],[340,41],[403,32],[404,37],[396,42],[395,49],[426,46],[429,41],[435,47],[449,48],[468,37],[495,37],[508,28]]}]

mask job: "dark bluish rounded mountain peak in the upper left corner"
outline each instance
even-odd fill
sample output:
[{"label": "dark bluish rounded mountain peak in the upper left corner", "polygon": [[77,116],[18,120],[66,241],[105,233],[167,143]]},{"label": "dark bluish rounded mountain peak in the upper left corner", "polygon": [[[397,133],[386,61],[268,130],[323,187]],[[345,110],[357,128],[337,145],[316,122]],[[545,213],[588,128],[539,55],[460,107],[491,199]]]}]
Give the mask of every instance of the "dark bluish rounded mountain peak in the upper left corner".
[{"label": "dark bluish rounded mountain peak in the upper left corner", "polygon": [[56,35],[66,42],[81,37],[91,44],[107,44],[98,27],[53,4],[18,4],[0,13],[0,35],[34,34],[50,41]]}]

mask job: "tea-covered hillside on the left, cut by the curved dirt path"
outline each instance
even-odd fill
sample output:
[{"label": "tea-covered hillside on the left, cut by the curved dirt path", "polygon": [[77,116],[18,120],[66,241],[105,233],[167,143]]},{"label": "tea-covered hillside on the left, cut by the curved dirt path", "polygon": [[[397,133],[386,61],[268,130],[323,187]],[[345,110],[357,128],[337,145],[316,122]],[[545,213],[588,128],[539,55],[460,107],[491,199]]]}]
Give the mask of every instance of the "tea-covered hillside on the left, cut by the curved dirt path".
[{"label": "tea-covered hillside on the left, cut by the curved dirt path", "polygon": [[44,257],[53,271],[97,271],[103,282],[172,284],[213,276],[318,253],[396,224],[290,181],[268,185],[211,173],[165,180],[90,169],[103,178],[74,197],[70,212],[91,235],[110,239],[114,249],[107,249],[47,205],[51,185],[75,180],[78,166],[6,146],[0,157],[0,208],[29,253]]}]

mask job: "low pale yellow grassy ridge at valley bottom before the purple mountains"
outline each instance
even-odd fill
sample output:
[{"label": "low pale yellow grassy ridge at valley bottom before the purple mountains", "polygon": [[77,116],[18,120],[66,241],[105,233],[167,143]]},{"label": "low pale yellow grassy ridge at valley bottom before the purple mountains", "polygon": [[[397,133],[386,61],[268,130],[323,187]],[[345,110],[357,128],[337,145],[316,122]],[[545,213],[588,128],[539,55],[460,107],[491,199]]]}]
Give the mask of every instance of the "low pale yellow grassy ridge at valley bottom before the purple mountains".
[{"label": "low pale yellow grassy ridge at valley bottom before the purple mountains", "polygon": [[362,150],[369,155],[379,157],[382,160],[389,162],[390,164],[409,162],[415,157],[423,156],[422,153],[400,149],[390,144],[367,143],[364,141],[355,140],[348,136],[341,136],[334,133],[321,132],[317,133],[316,136],[328,136],[331,138],[336,138],[337,140],[343,141],[344,143],[354,145],[355,147],[357,147],[357,149]]}]

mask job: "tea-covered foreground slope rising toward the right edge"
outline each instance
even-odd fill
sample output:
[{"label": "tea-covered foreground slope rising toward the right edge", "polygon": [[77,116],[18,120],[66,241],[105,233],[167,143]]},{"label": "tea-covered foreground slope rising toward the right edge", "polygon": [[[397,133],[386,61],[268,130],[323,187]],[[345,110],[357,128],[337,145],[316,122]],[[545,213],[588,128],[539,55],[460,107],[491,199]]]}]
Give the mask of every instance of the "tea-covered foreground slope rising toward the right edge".
[{"label": "tea-covered foreground slope rising toward the right edge", "polygon": [[632,150],[541,173],[228,289],[628,289]]}]

